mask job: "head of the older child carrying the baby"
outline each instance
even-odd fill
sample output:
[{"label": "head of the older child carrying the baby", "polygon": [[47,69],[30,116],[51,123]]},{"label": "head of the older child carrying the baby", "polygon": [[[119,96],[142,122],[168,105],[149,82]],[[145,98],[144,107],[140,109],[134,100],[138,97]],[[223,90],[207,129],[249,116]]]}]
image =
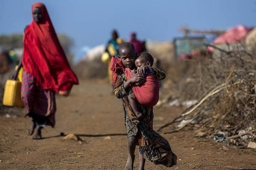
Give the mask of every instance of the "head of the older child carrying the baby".
[{"label": "head of the older child carrying the baby", "polygon": [[137,57],[134,45],[130,42],[124,42],[119,46],[119,57],[125,67],[132,69]]}]

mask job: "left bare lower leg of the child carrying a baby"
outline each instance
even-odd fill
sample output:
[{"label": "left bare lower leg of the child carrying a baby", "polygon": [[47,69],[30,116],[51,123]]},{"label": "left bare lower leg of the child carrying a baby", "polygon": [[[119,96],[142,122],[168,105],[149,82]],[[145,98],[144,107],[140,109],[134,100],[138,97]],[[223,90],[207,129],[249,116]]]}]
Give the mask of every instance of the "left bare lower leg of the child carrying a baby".
[{"label": "left bare lower leg of the child carrying a baby", "polygon": [[137,137],[136,136],[131,136],[127,139],[127,147],[128,147],[128,159],[125,165],[125,170],[133,170],[133,165],[134,165],[134,159],[135,159],[135,148],[137,144]]}]

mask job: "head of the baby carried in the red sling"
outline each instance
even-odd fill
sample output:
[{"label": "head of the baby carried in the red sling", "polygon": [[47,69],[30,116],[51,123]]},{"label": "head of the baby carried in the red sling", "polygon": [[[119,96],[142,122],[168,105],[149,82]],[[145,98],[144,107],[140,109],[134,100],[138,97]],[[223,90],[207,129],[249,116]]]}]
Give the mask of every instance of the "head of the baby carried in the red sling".
[{"label": "head of the baby carried in the red sling", "polygon": [[151,54],[147,52],[142,52],[139,54],[138,58],[135,60],[136,67],[143,67],[143,66],[152,66],[154,63],[154,58]]}]

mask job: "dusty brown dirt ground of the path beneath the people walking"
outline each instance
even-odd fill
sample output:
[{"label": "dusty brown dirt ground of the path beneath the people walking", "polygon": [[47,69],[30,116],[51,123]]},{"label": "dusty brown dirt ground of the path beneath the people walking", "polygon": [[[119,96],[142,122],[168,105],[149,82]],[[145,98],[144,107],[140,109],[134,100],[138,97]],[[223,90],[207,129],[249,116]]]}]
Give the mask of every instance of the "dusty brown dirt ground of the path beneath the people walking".
[{"label": "dusty brown dirt ground of the path beneath the people walking", "polygon": [[[56,127],[43,130],[42,140],[26,135],[29,119],[0,117],[0,170],[124,170],[127,150],[121,100],[105,82],[82,81],[65,98],[57,96]],[[155,128],[171,121],[179,108],[154,108]],[[79,134],[81,144],[60,133]],[[106,136],[108,139],[105,139]],[[256,169],[256,150],[236,149],[191,131],[163,135],[177,154],[177,165],[166,168],[146,162],[146,170]],[[138,169],[138,150],[135,170]]]}]

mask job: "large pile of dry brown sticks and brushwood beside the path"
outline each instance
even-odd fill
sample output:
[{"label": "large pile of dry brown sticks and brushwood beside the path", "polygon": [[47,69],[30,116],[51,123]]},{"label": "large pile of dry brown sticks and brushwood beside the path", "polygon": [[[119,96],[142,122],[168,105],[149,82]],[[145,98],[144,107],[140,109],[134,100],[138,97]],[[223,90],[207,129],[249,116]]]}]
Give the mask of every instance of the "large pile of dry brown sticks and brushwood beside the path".
[{"label": "large pile of dry brown sticks and brushwood beside the path", "polygon": [[[256,141],[256,53],[250,54],[241,47],[237,45],[233,51],[219,48],[220,56],[191,61],[193,67],[188,71],[193,72],[183,80],[194,81],[179,82],[183,92],[179,95],[198,99],[198,103],[157,131],[172,125],[172,130],[164,133],[199,129],[208,137],[223,133],[236,144]],[[245,135],[247,138],[242,138]]]}]

